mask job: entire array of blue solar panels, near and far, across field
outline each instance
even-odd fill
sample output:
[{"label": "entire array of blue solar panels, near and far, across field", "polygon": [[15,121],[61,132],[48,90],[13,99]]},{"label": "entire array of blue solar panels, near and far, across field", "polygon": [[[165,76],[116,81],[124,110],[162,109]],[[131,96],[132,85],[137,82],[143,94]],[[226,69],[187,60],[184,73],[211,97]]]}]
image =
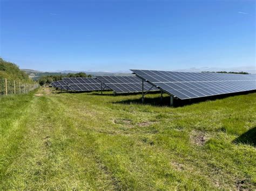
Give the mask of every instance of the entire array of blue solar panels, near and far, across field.
[{"label": "entire array of blue solar panels, near and far, across field", "polygon": [[256,75],[159,70],[131,71],[136,76],[64,77],[62,81],[53,82],[52,86],[75,91],[111,89],[116,93],[140,92],[142,89],[144,91],[161,90],[181,100],[256,90]]}]

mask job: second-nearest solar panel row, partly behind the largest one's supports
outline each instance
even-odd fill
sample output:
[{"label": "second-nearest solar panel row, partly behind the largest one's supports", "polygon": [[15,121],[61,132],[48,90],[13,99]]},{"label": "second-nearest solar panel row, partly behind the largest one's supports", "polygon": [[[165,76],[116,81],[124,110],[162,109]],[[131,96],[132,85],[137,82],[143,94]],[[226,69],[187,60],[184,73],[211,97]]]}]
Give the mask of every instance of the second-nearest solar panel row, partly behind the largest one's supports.
[{"label": "second-nearest solar panel row, partly behind the largest one's supports", "polygon": [[[137,76],[96,76],[116,93],[137,93],[142,91],[142,80]],[[149,83],[144,83],[144,91],[159,90]]]}]

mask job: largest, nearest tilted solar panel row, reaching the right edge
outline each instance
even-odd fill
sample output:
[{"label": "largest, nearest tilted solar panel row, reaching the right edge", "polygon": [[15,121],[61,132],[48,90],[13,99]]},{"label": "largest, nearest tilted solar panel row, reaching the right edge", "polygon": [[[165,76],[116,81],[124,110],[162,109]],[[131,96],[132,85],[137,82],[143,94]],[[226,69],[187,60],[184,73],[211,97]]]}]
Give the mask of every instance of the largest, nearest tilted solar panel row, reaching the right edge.
[{"label": "largest, nearest tilted solar panel row, reaching the right edge", "polygon": [[131,70],[141,79],[181,100],[256,89],[256,75]]}]

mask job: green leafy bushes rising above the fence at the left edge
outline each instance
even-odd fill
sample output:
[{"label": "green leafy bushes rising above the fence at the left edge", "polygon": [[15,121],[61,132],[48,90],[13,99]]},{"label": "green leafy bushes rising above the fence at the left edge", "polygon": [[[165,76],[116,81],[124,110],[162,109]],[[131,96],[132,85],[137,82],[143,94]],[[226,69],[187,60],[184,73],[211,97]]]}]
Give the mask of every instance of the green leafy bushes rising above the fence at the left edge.
[{"label": "green leafy bushes rising above the fence at the left edge", "polygon": [[0,79],[1,78],[20,80],[23,82],[31,81],[29,75],[19,69],[15,63],[4,61],[2,58],[0,58]]}]

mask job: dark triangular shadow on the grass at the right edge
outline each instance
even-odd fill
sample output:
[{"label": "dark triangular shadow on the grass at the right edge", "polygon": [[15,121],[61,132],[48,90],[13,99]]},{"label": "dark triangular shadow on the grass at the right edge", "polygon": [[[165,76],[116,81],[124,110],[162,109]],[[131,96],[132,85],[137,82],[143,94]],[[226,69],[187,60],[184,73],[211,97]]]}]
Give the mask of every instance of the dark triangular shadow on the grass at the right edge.
[{"label": "dark triangular shadow on the grass at the right edge", "polygon": [[248,130],[244,134],[240,135],[238,138],[234,139],[233,143],[242,143],[247,145],[253,145],[254,147],[256,147],[256,126]]}]

